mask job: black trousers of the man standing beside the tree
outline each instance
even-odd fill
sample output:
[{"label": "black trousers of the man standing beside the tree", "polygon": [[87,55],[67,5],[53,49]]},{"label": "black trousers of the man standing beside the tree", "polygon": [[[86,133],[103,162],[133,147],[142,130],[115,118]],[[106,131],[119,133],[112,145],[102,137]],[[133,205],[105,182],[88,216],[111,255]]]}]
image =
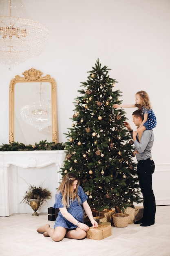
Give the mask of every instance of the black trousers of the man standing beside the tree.
[{"label": "black trousers of the man standing beside the tree", "polygon": [[155,171],[155,163],[152,159],[140,160],[137,162],[137,175],[141,193],[144,197],[144,215],[147,222],[155,222],[155,195],[152,190],[152,173]]}]

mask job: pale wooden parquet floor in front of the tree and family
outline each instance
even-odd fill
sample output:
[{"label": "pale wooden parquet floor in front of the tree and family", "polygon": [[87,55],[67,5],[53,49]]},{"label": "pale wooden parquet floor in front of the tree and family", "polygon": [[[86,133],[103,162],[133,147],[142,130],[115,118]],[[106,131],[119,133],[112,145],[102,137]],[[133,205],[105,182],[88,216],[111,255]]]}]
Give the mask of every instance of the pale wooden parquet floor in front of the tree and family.
[{"label": "pale wooden parquet floor in front of the tree and family", "polygon": [[0,217],[0,256],[170,256],[170,206],[157,206],[155,225],[112,227],[112,235],[103,240],[54,242],[38,234],[36,229],[48,221],[47,213],[33,217],[31,213]]}]

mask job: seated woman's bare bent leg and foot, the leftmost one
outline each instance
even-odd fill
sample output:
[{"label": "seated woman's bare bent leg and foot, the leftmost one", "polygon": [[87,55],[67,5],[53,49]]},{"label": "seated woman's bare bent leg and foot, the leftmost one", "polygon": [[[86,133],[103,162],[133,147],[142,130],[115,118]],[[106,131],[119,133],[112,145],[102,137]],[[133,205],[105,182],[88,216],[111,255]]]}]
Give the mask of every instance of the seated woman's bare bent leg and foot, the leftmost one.
[{"label": "seated woman's bare bent leg and foot, the leftmost one", "polygon": [[66,235],[67,229],[64,227],[51,228],[49,224],[46,224],[37,229],[38,233],[42,233],[44,236],[50,236],[54,241],[61,241]]}]

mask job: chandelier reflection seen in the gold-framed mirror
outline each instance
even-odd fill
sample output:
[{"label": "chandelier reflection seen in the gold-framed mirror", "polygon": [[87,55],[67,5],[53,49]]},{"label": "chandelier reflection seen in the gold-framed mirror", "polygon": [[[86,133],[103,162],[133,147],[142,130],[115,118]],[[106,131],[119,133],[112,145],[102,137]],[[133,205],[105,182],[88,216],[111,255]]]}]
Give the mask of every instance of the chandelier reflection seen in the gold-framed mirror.
[{"label": "chandelier reflection seen in the gold-framed mirror", "polygon": [[45,97],[45,90],[42,88],[42,83],[40,84],[40,88],[36,94],[39,94],[39,102],[34,102],[32,105],[22,107],[21,117],[26,124],[29,124],[41,131],[45,128],[49,129],[51,126],[51,101],[43,99],[43,94]]}]

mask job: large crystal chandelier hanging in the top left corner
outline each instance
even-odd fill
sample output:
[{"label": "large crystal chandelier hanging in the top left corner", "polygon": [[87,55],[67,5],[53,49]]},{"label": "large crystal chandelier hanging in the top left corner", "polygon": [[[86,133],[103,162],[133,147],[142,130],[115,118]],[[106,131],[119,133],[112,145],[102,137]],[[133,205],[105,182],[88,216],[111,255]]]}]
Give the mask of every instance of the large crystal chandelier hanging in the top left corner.
[{"label": "large crystal chandelier hanging in the top left corner", "polygon": [[40,55],[49,29],[31,20],[21,0],[0,0],[0,62],[11,68]]}]

